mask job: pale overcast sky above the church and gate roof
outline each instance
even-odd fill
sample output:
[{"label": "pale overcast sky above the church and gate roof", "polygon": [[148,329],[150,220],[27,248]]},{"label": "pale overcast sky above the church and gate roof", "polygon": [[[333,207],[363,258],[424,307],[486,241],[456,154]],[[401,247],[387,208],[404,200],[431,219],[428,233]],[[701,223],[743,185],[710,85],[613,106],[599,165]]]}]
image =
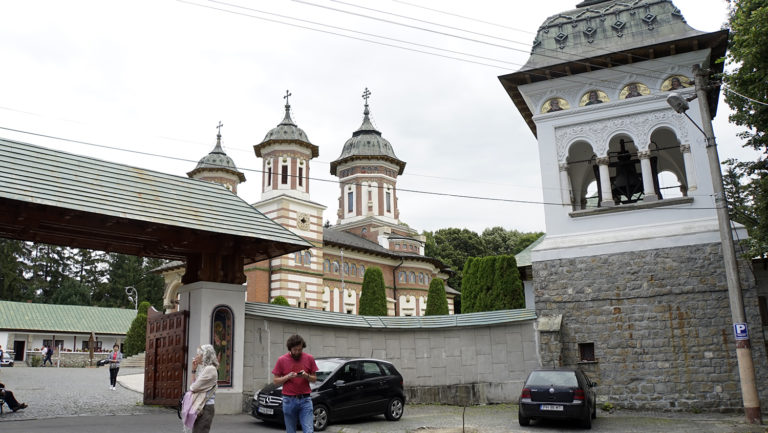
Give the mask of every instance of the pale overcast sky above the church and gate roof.
[{"label": "pale overcast sky above the church and gate roof", "polygon": [[[282,120],[290,89],[294,121],[320,147],[311,199],[335,224],[330,162],[360,126],[367,87],[374,124],[407,163],[403,222],[545,231],[536,140],[497,77],[525,63],[545,18],[579,1],[4,1],[0,137],[186,176],[221,121],[224,150],[247,178],[239,195],[253,203],[262,164],[253,145]],[[726,20],[724,0],[674,3],[698,30]],[[721,102],[720,157],[751,159],[728,111]]]}]

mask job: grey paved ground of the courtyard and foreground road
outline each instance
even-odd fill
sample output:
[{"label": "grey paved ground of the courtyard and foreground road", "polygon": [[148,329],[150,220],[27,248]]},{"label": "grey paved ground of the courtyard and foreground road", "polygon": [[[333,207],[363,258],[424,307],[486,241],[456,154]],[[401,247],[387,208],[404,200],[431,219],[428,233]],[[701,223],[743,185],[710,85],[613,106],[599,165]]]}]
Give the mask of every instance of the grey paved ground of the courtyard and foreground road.
[{"label": "grey paved ground of the courtyard and foreground road", "polygon": [[[121,369],[121,374],[140,373]],[[180,432],[176,412],[147,407],[140,393],[118,387],[109,390],[106,368],[0,369],[0,382],[29,408],[0,415],[2,433],[152,433]],[[462,427],[463,426],[463,427]],[[250,415],[217,415],[213,433],[279,433],[282,427],[264,424]],[[334,433],[501,433],[582,431],[569,423],[539,423],[520,427],[514,405],[462,408],[443,405],[406,405],[400,421],[383,416],[332,424]],[[592,431],[643,433],[767,433],[764,426],[744,423],[743,415],[598,412]]]}]

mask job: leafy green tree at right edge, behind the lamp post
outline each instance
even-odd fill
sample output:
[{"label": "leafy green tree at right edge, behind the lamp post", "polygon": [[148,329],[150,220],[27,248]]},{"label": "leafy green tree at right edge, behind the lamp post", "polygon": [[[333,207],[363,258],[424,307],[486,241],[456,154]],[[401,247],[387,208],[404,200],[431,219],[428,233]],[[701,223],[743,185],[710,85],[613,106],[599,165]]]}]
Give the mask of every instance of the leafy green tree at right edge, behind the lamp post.
[{"label": "leafy green tree at right edge, behind the lamp post", "polygon": [[[760,151],[755,161],[726,161],[724,176],[729,211],[747,227],[747,255],[768,253],[768,2],[729,0],[728,62],[724,75],[729,120],[745,129],[744,147]],[[730,89],[730,90],[729,90]]]}]

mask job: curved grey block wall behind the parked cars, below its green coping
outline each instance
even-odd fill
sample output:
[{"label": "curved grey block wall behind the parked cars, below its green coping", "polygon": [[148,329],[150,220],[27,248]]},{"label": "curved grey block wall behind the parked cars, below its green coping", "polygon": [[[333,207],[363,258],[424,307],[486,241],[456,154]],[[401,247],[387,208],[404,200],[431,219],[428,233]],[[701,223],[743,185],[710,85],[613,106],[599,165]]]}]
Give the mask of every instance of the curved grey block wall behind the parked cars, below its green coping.
[{"label": "curved grey block wall behind the parked cars, below its green coping", "polygon": [[307,352],[392,362],[410,403],[486,404],[517,401],[528,372],[539,366],[532,321],[432,329],[360,329],[246,315],[244,410],[272,382],[272,368],[299,334]]}]

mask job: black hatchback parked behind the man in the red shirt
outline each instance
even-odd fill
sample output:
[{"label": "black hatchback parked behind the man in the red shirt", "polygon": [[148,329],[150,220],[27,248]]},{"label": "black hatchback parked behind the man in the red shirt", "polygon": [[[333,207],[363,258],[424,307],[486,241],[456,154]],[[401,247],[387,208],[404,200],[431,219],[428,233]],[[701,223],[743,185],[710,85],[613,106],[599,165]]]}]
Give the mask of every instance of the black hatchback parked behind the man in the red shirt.
[{"label": "black hatchback parked behind the man in the red shirt", "polygon": [[[397,421],[403,416],[403,376],[392,363],[365,358],[317,358],[317,382],[310,383],[315,430],[331,421],[381,415]],[[282,387],[269,385],[251,403],[251,415],[283,423]]]}]

